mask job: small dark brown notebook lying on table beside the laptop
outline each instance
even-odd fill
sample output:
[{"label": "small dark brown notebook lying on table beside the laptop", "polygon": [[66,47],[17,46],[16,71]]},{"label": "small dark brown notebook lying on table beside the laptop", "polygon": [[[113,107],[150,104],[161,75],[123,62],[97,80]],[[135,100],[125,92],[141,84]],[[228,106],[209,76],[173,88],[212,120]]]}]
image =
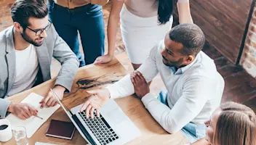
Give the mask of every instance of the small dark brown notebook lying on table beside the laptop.
[{"label": "small dark brown notebook lying on table beside the laptop", "polygon": [[60,120],[51,120],[46,135],[71,140],[74,132],[75,126],[73,123]]}]

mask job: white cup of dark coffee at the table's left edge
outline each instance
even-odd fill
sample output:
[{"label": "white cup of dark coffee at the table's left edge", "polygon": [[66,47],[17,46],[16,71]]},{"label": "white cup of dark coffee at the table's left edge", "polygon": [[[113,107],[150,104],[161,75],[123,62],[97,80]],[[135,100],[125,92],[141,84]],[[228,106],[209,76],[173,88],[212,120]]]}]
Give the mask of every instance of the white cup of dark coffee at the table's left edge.
[{"label": "white cup of dark coffee at the table's left edge", "polygon": [[0,141],[1,142],[6,142],[12,139],[12,128],[11,128],[11,123],[9,123],[9,120],[7,119],[2,119],[0,120],[0,126],[1,125],[8,125],[7,128],[4,130],[0,130]]}]

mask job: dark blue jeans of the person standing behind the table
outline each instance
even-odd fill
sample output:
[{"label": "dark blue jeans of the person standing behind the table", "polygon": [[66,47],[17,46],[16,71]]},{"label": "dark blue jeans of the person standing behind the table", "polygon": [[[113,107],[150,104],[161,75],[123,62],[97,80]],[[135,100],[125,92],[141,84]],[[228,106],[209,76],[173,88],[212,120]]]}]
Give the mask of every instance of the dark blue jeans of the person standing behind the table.
[{"label": "dark blue jeans of the person standing behind the table", "polygon": [[[57,33],[76,54],[80,67],[89,65],[104,54],[105,24],[102,7],[87,4],[74,9],[68,9],[55,4],[47,3],[49,20],[52,21]],[[84,57],[79,51],[79,36],[84,50]]]}]

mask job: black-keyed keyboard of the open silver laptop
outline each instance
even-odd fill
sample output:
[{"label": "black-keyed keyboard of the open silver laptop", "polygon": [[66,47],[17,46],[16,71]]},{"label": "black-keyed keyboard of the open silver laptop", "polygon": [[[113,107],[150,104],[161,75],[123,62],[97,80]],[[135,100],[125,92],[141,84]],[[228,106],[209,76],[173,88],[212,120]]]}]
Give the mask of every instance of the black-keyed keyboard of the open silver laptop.
[{"label": "black-keyed keyboard of the open silver laptop", "polygon": [[100,117],[97,117],[96,112],[94,112],[95,117],[93,119],[92,117],[89,117],[87,119],[85,110],[83,112],[79,112],[79,115],[84,120],[84,123],[87,124],[89,129],[95,135],[97,141],[99,141],[100,144],[109,144],[119,138],[119,136],[117,136],[111,126],[108,125],[102,115],[100,115]]}]

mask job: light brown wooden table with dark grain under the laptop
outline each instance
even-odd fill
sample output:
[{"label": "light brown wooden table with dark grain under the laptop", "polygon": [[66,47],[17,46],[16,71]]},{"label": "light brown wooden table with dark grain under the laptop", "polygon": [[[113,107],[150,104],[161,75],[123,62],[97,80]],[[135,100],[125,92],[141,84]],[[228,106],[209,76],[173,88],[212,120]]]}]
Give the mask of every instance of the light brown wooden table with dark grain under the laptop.
[{"label": "light brown wooden table with dark grain under the laptop", "polygon": [[[99,88],[109,83],[114,83],[115,81],[121,79],[126,75],[126,70],[119,63],[117,59],[113,59],[112,62],[105,65],[87,65],[85,67],[79,68],[76,74],[76,78],[73,81],[73,87],[71,94],[65,94],[63,103],[68,107],[74,107],[83,103],[87,96],[86,90],[92,88]],[[8,99],[20,102],[28,94],[34,92],[45,96],[49,91],[49,88],[55,83],[55,78],[48,80],[47,82],[41,83],[39,86],[31,88],[28,91],[24,91],[15,96],[11,96]],[[172,145],[184,145],[187,139],[182,133],[169,134],[151,117],[148,111],[143,106],[142,102],[135,98],[135,96],[128,96],[121,99],[115,99],[117,104],[121,107],[124,113],[132,120],[133,123],[140,128],[142,136],[130,141],[128,144],[172,144]],[[76,130],[72,140],[65,140],[61,138],[53,138],[45,136],[46,130],[49,126],[49,121],[51,119],[70,121],[68,116],[60,107],[57,111],[47,120],[46,123],[41,125],[41,128],[29,138],[29,144],[35,144],[36,141],[51,143],[51,144],[87,144],[84,138],[81,137],[79,132]],[[1,144],[1,143],[0,143]],[[15,144],[15,139],[8,141],[7,143],[2,143],[4,145]]]}]

